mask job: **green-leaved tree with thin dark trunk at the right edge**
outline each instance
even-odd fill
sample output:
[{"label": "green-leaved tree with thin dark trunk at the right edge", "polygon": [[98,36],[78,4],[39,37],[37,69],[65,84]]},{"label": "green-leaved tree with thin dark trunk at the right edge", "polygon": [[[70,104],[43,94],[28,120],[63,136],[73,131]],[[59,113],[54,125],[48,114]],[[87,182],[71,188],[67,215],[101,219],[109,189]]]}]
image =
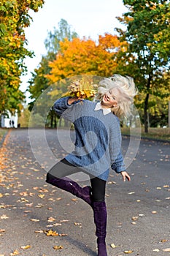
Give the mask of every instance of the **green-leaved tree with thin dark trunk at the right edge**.
[{"label": "green-leaved tree with thin dark trunk at the right edge", "polygon": [[[129,44],[128,52],[120,56],[128,75],[134,76],[144,97],[144,131],[148,132],[148,106],[150,94],[163,97],[161,86],[169,86],[165,78],[169,71],[170,25],[169,1],[123,0],[128,12],[118,18],[127,30],[117,29],[120,40]],[[132,56],[127,63],[127,57]],[[164,78],[164,79],[163,79]],[[169,89],[168,89],[169,91]]]}]

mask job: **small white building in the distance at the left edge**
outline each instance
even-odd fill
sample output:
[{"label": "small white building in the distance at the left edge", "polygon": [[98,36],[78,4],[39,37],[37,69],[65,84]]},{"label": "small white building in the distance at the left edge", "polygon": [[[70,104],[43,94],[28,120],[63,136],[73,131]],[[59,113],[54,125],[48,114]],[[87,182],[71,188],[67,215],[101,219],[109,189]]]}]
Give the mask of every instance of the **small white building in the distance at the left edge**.
[{"label": "small white building in the distance at the left edge", "polygon": [[17,128],[18,127],[18,113],[15,111],[15,115],[7,110],[7,115],[1,115],[1,127],[5,128]]}]

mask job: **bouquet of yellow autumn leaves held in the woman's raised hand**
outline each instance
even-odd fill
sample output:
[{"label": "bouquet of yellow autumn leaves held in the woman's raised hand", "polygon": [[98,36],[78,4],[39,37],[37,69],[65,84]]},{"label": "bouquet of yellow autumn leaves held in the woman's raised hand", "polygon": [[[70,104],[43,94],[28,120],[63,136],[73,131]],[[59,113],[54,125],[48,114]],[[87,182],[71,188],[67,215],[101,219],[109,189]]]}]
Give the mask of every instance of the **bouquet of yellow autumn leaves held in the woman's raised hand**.
[{"label": "bouquet of yellow autumn leaves held in the woman's raised hand", "polygon": [[96,93],[96,87],[97,85],[93,83],[92,79],[81,78],[70,83],[68,92],[65,95],[82,99],[91,99]]}]

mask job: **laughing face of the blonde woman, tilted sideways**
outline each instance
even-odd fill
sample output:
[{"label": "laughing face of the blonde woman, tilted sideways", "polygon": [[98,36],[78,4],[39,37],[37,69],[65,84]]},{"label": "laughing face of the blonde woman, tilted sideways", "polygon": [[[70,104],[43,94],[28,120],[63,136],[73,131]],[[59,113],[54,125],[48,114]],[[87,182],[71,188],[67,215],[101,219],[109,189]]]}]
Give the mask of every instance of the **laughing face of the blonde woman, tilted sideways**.
[{"label": "laughing face of the blonde woman, tilted sideways", "polygon": [[112,108],[113,106],[117,105],[118,98],[119,91],[117,91],[116,88],[113,88],[104,94],[104,97],[101,100],[101,105],[103,108]]}]

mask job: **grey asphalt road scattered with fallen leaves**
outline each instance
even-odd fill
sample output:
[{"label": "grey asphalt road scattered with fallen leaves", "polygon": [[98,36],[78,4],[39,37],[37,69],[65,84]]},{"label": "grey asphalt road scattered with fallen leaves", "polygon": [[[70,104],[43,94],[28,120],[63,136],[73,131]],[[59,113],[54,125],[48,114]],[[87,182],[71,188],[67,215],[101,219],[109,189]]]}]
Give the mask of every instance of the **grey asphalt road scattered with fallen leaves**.
[{"label": "grey asphalt road scattered with fallen leaves", "polygon": [[[38,160],[31,150],[28,129],[12,129],[9,134],[0,176],[0,256],[97,255],[90,206],[45,183],[43,165],[61,159],[66,154],[62,148],[69,148],[66,132],[60,132],[66,143],[63,147],[58,144],[55,130],[46,132],[46,143],[53,152],[49,157],[39,139],[41,131],[31,130],[31,146]],[[128,146],[129,138],[123,138],[123,154]],[[170,255],[169,151],[169,143],[141,140],[134,162],[128,166],[131,182],[123,182],[121,176],[110,172],[106,197],[108,256],[123,256],[125,252]],[[39,162],[39,154],[43,163]],[[47,230],[59,236],[47,236]]]}]

